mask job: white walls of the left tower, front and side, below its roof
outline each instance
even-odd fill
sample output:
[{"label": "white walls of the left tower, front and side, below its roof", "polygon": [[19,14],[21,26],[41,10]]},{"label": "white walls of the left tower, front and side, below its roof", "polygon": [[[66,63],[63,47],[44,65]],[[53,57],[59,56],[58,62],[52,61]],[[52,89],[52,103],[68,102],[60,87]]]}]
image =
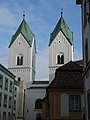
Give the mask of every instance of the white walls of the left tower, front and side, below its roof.
[{"label": "white walls of the left tower, front and side, below its roof", "polygon": [[[23,64],[17,65],[17,57],[23,57]],[[20,33],[9,48],[9,70],[20,77],[25,83],[35,79],[35,45],[29,46],[26,39]]]}]

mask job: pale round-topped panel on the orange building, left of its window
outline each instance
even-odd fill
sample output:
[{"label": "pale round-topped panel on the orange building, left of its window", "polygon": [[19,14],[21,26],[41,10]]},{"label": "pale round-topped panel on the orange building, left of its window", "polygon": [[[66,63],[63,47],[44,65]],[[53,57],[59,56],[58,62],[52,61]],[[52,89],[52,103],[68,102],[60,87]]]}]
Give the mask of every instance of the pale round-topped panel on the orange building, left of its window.
[{"label": "pale round-topped panel on the orange building, left of its window", "polygon": [[66,93],[61,94],[61,116],[69,116],[69,95]]}]

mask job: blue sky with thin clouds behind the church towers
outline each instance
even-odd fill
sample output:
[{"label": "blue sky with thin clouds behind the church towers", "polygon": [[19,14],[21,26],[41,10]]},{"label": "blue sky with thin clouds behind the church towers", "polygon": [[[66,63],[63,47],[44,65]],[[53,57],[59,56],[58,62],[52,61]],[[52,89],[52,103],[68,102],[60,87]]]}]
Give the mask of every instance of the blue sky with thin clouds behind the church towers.
[{"label": "blue sky with thin clouds behind the church towers", "polygon": [[50,33],[61,17],[61,9],[74,35],[74,60],[81,59],[81,8],[76,0],[0,0],[0,64],[8,68],[8,46],[25,11],[25,20],[36,39],[36,80],[47,80]]}]

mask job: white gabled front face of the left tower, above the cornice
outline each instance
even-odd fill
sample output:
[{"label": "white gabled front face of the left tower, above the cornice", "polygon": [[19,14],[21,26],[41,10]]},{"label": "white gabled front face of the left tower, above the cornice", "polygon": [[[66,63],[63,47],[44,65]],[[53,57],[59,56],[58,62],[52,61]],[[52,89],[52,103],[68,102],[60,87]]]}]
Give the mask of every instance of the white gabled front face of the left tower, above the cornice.
[{"label": "white gabled front face of the left tower, above the cornice", "polygon": [[19,34],[19,36],[16,38],[16,40],[9,49],[10,49],[9,67],[11,68],[16,67],[16,56],[19,55],[20,53],[23,54],[24,57],[23,66],[24,67],[31,66],[31,59],[30,59],[31,47],[28,45],[22,34]]}]

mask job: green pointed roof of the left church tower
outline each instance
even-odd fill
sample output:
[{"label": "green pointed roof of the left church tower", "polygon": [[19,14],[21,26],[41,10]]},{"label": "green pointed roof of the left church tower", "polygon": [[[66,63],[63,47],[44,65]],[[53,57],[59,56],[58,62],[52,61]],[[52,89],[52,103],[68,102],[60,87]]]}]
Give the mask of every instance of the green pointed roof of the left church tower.
[{"label": "green pointed roof of the left church tower", "polygon": [[32,41],[33,41],[34,34],[30,30],[30,28],[29,28],[28,24],[26,23],[25,19],[23,19],[21,24],[20,24],[20,26],[18,27],[16,33],[12,36],[11,42],[9,44],[9,47],[13,44],[13,42],[15,41],[15,39],[17,38],[17,36],[20,33],[24,36],[24,38],[26,39],[27,43],[30,46],[32,46]]}]

